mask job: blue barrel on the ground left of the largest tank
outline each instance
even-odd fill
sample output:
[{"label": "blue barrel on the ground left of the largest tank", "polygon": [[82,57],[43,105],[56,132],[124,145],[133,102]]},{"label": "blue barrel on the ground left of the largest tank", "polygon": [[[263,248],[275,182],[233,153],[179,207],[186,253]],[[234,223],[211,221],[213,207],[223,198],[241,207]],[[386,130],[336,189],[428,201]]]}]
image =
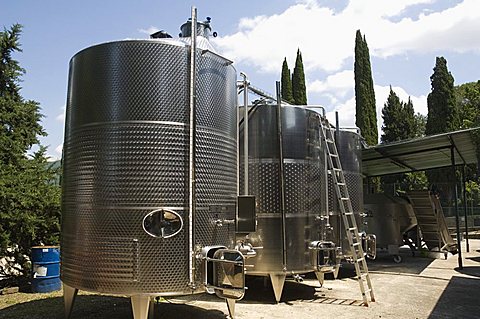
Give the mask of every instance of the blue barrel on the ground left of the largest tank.
[{"label": "blue barrel on the ground left of the largest tank", "polygon": [[60,290],[60,249],[58,246],[32,247],[32,292]]}]

